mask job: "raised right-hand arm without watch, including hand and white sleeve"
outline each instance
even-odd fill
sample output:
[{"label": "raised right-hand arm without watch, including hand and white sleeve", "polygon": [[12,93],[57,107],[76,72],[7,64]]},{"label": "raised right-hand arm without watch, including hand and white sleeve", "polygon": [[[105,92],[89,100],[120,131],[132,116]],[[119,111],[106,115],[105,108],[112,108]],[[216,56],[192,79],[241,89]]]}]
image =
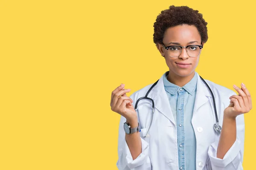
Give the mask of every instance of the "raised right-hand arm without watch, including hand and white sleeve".
[{"label": "raised right-hand arm without watch, including hand and white sleeve", "polygon": [[213,170],[243,170],[244,115],[251,110],[251,98],[244,85],[234,86],[239,96],[233,92],[230,105],[224,110],[219,141],[211,144],[208,154]]}]

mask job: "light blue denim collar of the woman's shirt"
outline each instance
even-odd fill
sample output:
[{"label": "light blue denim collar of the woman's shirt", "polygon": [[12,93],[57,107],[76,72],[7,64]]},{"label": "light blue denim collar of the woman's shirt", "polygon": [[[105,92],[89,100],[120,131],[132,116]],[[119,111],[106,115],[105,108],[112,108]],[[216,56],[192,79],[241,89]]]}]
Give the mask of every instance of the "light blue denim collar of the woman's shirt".
[{"label": "light blue denim collar of the woman's shirt", "polygon": [[[163,76],[163,85],[164,85],[165,90],[173,95],[173,94],[177,93],[177,91],[180,89],[180,87],[167,80],[166,76],[168,74],[169,74],[169,71],[167,71]],[[195,72],[194,77],[182,88],[184,88],[189,94],[193,95],[195,92],[195,89],[196,89],[197,79],[198,79],[197,72]]]}]

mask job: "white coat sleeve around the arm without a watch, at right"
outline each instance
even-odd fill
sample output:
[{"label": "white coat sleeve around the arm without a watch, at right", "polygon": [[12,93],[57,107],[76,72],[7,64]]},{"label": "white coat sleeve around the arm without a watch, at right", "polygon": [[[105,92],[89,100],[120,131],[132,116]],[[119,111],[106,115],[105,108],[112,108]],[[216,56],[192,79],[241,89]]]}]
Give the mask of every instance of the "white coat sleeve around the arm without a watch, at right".
[{"label": "white coat sleeve around the arm without a watch, at right", "polygon": [[[233,92],[230,96],[234,94],[236,93]],[[219,137],[216,138],[215,142],[210,145],[208,150],[212,170],[243,170],[244,114],[236,117],[236,141],[227,151],[223,159],[217,158],[218,142]]]}]

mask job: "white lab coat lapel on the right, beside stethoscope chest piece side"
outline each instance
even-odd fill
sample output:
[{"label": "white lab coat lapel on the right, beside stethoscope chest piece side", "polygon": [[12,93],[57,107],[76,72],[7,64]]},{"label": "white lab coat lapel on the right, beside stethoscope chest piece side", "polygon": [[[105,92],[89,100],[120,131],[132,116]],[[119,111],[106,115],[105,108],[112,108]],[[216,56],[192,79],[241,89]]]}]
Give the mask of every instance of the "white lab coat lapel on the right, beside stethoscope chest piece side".
[{"label": "white lab coat lapel on the right, beside stethoscope chest piece side", "polygon": [[211,96],[210,92],[208,91],[208,88],[204,84],[204,82],[201,80],[199,74],[198,81],[197,81],[197,89],[196,89],[196,95],[195,95],[195,105],[193,109],[193,116],[202,105],[204,105],[209,99],[208,97]]}]

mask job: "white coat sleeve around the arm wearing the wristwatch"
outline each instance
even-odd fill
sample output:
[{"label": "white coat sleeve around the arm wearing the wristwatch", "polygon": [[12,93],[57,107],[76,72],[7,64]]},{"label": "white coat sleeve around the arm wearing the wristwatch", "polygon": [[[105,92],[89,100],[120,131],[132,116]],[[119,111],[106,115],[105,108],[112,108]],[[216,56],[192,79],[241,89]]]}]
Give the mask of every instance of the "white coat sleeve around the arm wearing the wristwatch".
[{"label": "white coat sleeve around the arm wearing the wristwatch", "polygon": [[[131,99],[134,101],[134,95]],[[141,139],[142,152],[136,159],[132,159],[131,152],[125,140],[125,130],[123,124],[126,122],[125,117],[121,116],[119,123],[119,135],[118,135],[118,161],[116,166],[119,170],[151,170],[151,161],[148,156],[149,144],[144,139]],[[139,122],[140,123],[140,122]]]}]

